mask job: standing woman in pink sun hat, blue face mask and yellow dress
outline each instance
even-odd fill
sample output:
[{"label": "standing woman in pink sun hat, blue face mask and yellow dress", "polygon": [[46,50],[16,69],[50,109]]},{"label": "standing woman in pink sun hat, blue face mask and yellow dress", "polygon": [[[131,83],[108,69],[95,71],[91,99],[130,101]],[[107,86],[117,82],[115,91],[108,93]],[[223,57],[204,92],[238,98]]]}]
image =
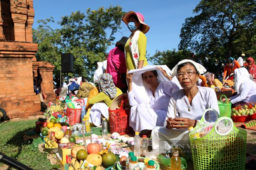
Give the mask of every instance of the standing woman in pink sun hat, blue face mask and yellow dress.
[{"label": "standing woman in pink sun hat, blue face mask and yellow dress", "polygon": [[144,16],[141,13],[129,11],[122,18],[128,26],[131,35],[125,44],[125,62],[128,70],[142,68],[147,65],[146,46],[149,26],[144,23]]}]

